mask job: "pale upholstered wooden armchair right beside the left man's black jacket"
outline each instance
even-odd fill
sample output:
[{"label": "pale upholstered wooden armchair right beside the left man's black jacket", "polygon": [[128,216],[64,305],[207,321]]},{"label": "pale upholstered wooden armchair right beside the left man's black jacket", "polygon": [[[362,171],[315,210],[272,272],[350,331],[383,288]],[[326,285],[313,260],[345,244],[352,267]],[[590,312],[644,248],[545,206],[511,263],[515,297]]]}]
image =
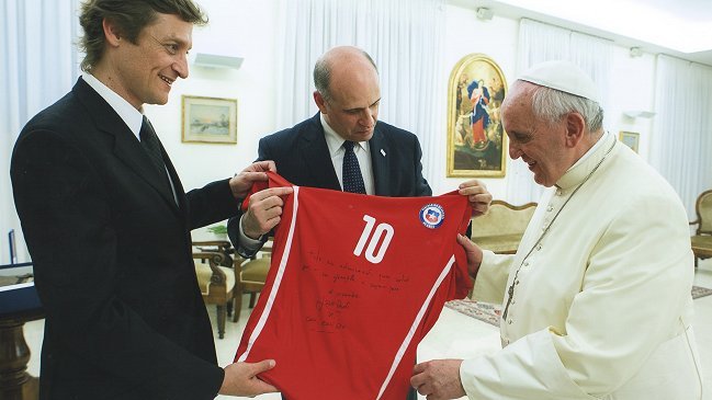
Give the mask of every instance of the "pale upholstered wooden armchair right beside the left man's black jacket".
[{"label": "pale upholstered wooden armchair right beside the left man's black jacket", "polygon": [[217,333],[225,338],[227,308],[235,298],[235,270],[223,266],[225,256],[218,252],[193,252],[197,284],[206,305],[217,309]]}]

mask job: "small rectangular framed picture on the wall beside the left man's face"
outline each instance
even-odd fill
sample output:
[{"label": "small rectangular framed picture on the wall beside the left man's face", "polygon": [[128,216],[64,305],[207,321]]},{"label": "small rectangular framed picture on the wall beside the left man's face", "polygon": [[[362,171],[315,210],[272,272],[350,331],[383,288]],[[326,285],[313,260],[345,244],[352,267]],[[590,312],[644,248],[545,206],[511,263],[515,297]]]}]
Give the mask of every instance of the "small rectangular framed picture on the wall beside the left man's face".
[{"label": "small rectangular framed picture on the wall beside the left man's face", "polygon": [[182,142],[237,144],[237,99],[182,96]]}]

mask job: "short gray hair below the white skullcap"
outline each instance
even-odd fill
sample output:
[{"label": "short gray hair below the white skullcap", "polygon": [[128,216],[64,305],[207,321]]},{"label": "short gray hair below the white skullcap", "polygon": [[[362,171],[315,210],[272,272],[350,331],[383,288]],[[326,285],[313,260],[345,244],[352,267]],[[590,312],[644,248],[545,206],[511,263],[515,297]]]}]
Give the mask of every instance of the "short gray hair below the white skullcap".
[{"label": "short gray hair below the white skullcap", "polygon": [[536,85],[532,93],[532,111],[536,118],[550,124],[558,122],[566,113],[576,112],[590,133],[603,126],[603,108],[597,102],[552,88]]}]

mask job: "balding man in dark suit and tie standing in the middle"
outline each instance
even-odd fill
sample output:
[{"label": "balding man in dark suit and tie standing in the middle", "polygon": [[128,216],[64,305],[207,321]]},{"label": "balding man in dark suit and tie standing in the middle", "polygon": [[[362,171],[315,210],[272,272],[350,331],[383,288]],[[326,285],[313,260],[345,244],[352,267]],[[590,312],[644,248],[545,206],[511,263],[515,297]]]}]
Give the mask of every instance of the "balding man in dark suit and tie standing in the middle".
[{"label": "balding man in dark suit and tie standing in the middle", "polygon": [[[378,71],[365,52],[328,50],[315,65],[314,83],[319,113],[262,138],[258,160],[273,160],[280,175],[301,186],[392,197],[432,194],[416,135],[377,121]],[[228,235],[240,255],[252,256],[279,224],[284,204],[279,190],[256,193],[247,212],[229,219]],[[463,183],[460,193],[468,196],[475,215],[487,212],[491,195],[479,181]],[[408,398],[416,397],[411,390]]]}]

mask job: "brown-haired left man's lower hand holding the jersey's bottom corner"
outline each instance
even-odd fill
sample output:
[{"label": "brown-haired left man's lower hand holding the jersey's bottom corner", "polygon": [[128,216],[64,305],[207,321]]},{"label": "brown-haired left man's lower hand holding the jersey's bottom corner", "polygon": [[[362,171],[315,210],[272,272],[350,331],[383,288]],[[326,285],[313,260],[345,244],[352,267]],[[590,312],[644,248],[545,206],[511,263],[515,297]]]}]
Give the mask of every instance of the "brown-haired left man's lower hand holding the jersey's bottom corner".
[{"label": "brown-haired left man's lower hand holding the jersey's bottom corner", "polygon": [[235,363],[225,367],[225,378],[221,386],[219,395],[227,396],[257,396],[278,391],[275,387],[257,377],[276,365],[274,359],[264,359],[259,363]]}]

